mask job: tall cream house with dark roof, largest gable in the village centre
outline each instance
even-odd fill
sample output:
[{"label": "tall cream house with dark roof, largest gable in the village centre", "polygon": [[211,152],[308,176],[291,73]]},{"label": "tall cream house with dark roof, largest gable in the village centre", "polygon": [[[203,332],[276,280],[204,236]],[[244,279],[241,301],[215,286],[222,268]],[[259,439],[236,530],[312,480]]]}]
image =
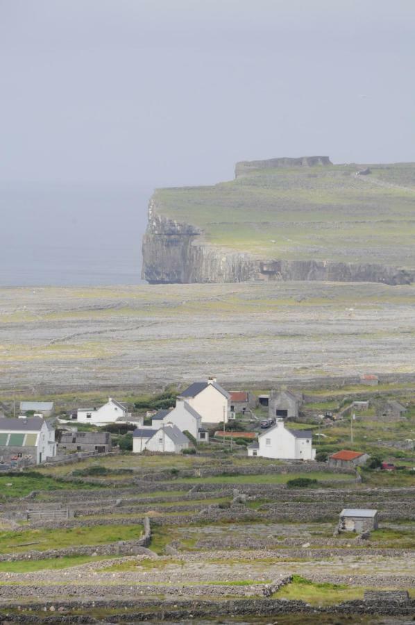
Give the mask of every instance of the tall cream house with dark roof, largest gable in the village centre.
[{"label": "tall cream house with dark roof, largest gable in the village centre", "polygon": [[230,415],[230,394],[221,387],[216,378],[208,378],[207,382],[194,382],[178,400],[187,401],[202,417],[202,425],[216,425],[228,422]]}]

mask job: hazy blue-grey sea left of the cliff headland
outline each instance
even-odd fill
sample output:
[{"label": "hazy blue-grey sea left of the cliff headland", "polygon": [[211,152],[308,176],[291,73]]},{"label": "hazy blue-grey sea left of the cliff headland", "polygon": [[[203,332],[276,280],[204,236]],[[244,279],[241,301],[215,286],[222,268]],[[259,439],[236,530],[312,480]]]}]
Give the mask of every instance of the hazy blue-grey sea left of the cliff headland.
[{"label": "hazy blue-grey sea left of the cliff headland", "polygon": [[151,187],[0,182],[0,287],[137,285]]}]

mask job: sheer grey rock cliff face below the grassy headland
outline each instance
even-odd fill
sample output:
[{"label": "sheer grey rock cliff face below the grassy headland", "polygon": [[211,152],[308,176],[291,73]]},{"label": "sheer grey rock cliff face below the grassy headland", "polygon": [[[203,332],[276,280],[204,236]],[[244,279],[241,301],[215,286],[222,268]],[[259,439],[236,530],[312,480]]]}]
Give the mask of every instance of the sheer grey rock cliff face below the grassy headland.
[{"label": "sheer grey rock cliff face below the grassy headland", "polygon": [[409,284],[414,279],[412,272],[375,263],[262,261],[207,244],[201,241],[201,234],[195,226],[158,215],[151,200],[142,246],[142,278],[151,284],[316,280],[390,285]]}]

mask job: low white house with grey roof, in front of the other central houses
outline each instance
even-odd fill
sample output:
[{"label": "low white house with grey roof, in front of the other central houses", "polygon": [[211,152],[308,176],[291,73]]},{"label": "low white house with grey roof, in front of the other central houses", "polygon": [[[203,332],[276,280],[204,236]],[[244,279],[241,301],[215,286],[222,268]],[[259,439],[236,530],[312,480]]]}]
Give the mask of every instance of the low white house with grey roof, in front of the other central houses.
[{"label": "low white house with grey roof, in front of the other central houses", "polygon": [[145,449],[162,453],[180,453],[189,447],[189,439],[173,424],[154,428],[137,428],[133,432],[133,452],[140,453]]}]

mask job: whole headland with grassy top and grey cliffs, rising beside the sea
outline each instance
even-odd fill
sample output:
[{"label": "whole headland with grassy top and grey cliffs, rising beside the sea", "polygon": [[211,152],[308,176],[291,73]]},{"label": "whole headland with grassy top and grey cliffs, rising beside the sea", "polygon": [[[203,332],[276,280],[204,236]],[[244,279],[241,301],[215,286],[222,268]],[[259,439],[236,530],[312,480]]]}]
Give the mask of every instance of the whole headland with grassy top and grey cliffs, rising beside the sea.
[{"label": "whole headland with grassy top and grey cliffs, rising beside the sea", "polygon": [[237,163],[235,181],[149,204],[149,283],[370,281],[415,275],[415,166],[325,156]]}]

